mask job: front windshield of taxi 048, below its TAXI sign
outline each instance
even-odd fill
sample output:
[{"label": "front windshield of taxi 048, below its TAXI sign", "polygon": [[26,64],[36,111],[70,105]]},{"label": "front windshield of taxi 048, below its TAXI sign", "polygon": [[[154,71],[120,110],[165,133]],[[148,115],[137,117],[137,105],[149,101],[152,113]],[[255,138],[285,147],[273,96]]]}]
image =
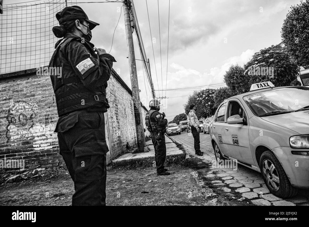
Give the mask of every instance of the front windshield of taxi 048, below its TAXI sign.
[{"label": "front windshield of taxi 048, below its TAXI sign", "polygon": [[243,97],[256,116],[270,116],[309,108],[309,87],[294,86],[261,91]]}]

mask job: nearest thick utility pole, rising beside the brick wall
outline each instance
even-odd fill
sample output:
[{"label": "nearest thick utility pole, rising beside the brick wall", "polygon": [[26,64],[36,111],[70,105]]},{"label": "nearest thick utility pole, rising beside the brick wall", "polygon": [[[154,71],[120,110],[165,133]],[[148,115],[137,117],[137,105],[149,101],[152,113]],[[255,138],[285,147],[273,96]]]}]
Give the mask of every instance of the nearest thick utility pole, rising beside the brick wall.
[{"label": "nearest thick utility pole, rising beside the brick wall", "polygon": [[123,2],[123,6],[124,6],[123,12],[125,16],[125,34],[127,38],[127,47],[128,47],[129,69],[130,69],[131,86],[132,86],[137,143],[139,151],[144,152],[145,134],[144,134],[144,125],[142,117],[141,99],[139,97],[138,92],[139,91],[138,79],[137,79],[132,28],[131,28],[131,13],[129,8],[131,6],[130,0],[125,0]]}]

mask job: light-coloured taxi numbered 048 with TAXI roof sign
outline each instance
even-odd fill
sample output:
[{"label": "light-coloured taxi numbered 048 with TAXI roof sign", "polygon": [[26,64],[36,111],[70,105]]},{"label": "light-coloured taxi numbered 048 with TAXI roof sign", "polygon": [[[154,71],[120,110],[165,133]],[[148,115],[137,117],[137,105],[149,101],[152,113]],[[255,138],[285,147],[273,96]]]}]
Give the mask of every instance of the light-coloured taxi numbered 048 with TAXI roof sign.
[{"label": "light-coloured taxi numbered 048 with TAXI roof sign", "polygon": [[235,159],[261,172],[281,198],[309,188],[309,87],[256,83],[224,100],[210,124],[217,161]]}]

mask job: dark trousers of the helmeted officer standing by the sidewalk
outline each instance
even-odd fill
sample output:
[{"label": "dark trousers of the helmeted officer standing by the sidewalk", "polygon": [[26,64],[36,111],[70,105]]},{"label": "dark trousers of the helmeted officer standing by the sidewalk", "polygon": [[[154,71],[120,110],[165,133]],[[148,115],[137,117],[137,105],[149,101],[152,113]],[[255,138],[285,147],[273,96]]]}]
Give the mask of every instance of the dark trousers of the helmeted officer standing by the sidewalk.
[{"label": "dark trousers of the helmeted officer standing by the sidewalk", "polygon": [[161,145],[155,139],[156,133],[152,133],[151,141],[155,148],[155,162],[157,167],[157,173],[164,172],[164,162],[166,157],[166,145],[165,145],[165,136],[164,133],[162,135],[162,142]]}]

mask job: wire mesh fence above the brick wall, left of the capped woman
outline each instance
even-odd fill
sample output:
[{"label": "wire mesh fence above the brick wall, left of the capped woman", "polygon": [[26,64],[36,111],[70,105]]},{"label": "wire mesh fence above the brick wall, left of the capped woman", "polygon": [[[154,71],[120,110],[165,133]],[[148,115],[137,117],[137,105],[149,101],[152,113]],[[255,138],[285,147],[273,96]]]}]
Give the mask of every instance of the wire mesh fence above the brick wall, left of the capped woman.
[{"label": "wire mesh fence above the brick wall, left of the capped woman", "polygon": [[52,31],[55,15],[76,1],[6,2],[0,14],[0,74],[48,65],[58,40]]}]

